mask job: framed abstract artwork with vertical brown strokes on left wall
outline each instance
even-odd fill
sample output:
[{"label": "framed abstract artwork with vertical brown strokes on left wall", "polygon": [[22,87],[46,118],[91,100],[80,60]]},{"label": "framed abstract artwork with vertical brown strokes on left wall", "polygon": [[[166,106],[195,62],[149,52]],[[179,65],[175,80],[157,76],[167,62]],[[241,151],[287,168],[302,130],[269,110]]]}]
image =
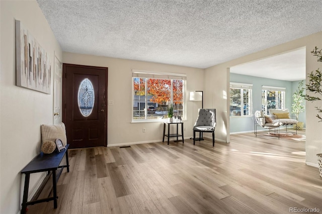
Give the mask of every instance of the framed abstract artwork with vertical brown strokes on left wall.
[{"label": "framed abstract artwork with vertical brown strokes on left wall", "polygon": [[51,63],[47,52],[16,20],[17,86],[50,94]]}]

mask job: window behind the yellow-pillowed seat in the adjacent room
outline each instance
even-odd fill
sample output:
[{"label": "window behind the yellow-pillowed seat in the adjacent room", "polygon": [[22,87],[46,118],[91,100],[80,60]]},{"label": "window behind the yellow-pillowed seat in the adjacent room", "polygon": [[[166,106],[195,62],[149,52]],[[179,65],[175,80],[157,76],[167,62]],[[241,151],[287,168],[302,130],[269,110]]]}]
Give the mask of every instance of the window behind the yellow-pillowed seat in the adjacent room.
[{"label": "window behind the yellow-pillowed seat in the adjacent room", "polygon": [[265,115],[269,115],[269,109],[285,108],[285,88],[262,86],[262,110]]}]

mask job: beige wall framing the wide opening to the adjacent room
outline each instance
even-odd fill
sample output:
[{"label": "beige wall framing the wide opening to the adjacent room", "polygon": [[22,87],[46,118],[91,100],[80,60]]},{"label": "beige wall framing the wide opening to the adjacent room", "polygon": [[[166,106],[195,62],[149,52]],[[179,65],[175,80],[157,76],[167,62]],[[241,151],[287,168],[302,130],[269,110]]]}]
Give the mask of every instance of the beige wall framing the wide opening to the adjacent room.
[{"label": "beige wall framing the wide opening to the adjacent room", "polygon": [[[222,121],[227,121],[228,124],[222,123],[220,129],[217,129],[217,134],[225,136],[225,132],[229,130],[229,115],[227,110],[229,105],[223,104],[224,97],[220,97],[222,93],[229,91],[229,68],[238,64],[250,62],[253,60],[262,59],[265,57],[281,54],[297,48],[306,46],[306,74],[312,70],[321,67],[322,64],[316,61],[316,57],[311,55],[311,51],[315,46],[322,48],[322,32],[312,34],[288,43],[284,43],[273,48],[269,48],[254,54],[250,54],[238,59],[234,59],[219,65],[207,68],[205,71],[205,91],[211,91],[213,99],[207,99],[207,104],[214,106],[217,109],[217,115],[222,116]],[[225,79],[225,76],[227,78]],[[306,80],[307,81],[307,80]],[[224,92],[223,92],[224,91]],[[208,97],[210,98],[210,97]],[[208,103],[210,102],[210,103]],[[226,102],[227,103],[227,102]],[[314,106],[320,106],[322,103],[311,103],[306,101],[306,163],[317,166],[316,154],[322,153],[322,123],[317,123],[315,118],[316,110]],[[229,142],[229,135],[226,135],[226,141]]]}]

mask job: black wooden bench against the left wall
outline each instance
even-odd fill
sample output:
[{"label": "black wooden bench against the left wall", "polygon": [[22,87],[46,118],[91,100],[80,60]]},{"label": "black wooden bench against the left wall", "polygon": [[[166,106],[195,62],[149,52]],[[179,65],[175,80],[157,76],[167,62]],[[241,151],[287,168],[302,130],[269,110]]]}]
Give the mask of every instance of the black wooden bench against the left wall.
[{"label": "black wooden bench against the left wall", "polygon": [[[26,213],[28,205],[41,203],[41,202],[48,202],[50,200],[54,201],[54,208],[57,208],[56,184],[64,167],[67,167],[67,172],[69,172],[68,147],[69,147],[69,144],[65,146],[65,149],[60,150],[60,152],[55,150],[51,154],[44,154],[43,152],[40,152],[38,156],[36,156],[32,161],[30,161],[27,164],[27,166],[25,166],[25,168],[23,168],[21,173],[25,174],[26,178],[25,178],[24,196],[23,196],[22,209],[21,209],[22,214]],[[60,162],[62,161],[65,154],[66,154],[66,165],[60,166]],[[56,170],[58,168],[61,168],[61,169],[56,175]],[[47,172],[47,176],[49,176],[49,173],[52,172],[53,197],[27,201],[30,174],[36,173],[36,172]]]}]

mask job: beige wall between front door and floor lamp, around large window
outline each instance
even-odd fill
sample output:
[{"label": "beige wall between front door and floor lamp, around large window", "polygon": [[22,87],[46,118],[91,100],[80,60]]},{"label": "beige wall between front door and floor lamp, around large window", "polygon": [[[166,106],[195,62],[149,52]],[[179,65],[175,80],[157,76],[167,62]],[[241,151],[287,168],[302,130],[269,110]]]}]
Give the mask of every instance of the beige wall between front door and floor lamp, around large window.
[{"label": "beige wall between front door and floor lamp, around large window", "polygon": [[[108,67],[108,100],[114,102],[113,105],[108,105],[108,146],[162,140],[163,123],[131,123],[132,69],[187,74],[187,120],[184,121],[184,136],[192,137],[192,127],[201,102],[189,101],[189,92],[203,90],[203,69],[66,52],[63,52],[63,63]],[[146,129],[145,133],[142,132],[143,128]]]}]

